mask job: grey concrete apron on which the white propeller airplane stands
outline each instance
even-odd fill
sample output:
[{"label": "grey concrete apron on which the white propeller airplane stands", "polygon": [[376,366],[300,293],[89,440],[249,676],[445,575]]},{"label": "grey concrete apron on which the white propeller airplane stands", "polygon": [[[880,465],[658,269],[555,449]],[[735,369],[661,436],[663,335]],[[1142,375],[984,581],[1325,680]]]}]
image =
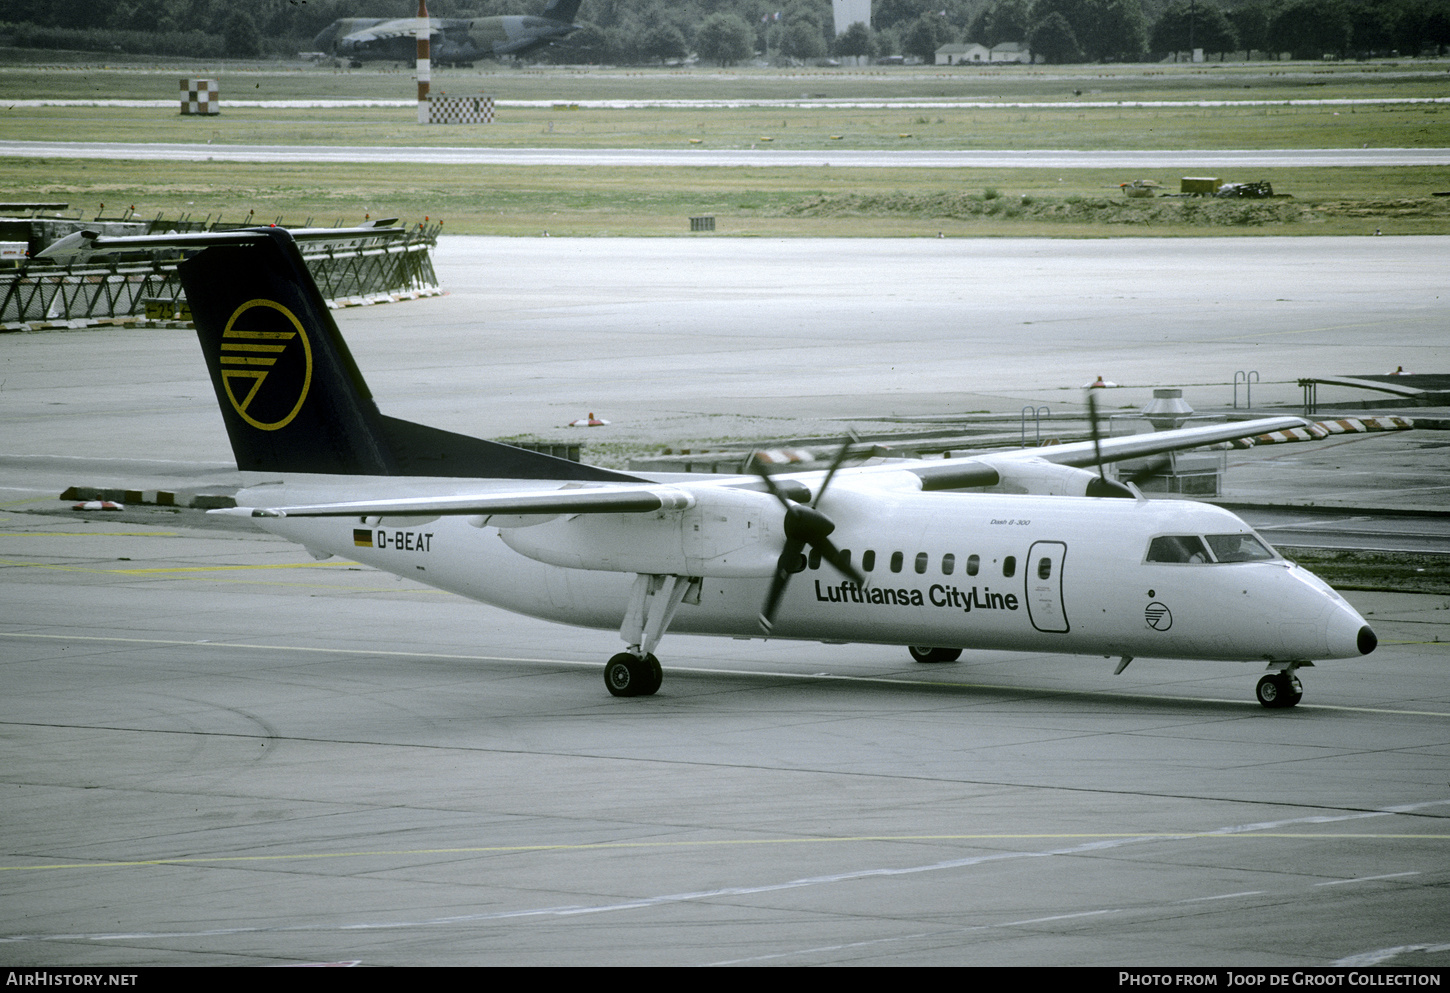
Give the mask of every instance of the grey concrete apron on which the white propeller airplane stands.
[{"label": "grey concrete apron on which the white propeller airplane stands", "polygon": [[[338,320],[386,413],[490,436],[1270,402],[1440,368],[1444,241],[445,239],[450,296]],[[679,635],[615,699],[613,632],[55,500],[225,475],[190,332],[0,354],[0,964],[1450,964],[1443,596],[1348,593],[1379,649],[1289,712],[1257,665]]]}]

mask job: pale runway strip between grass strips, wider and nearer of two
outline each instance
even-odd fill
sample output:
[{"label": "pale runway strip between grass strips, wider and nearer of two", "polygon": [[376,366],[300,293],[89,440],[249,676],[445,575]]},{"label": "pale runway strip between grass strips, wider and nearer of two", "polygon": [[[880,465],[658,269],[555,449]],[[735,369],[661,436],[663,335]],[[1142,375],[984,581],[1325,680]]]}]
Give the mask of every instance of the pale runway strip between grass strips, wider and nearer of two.
[{"label": "pale runway strip between grass strips, wider and nearer of two", "polygon": [[1308,168],[1447,165],[1450,148],[1279,148],[1227,151],[1064,149],[709,149],[448,148],[438,145],[204,145],[162,142],[3,141],[10,158],[100,158],[164,162],[403,162],[416,165],[699,165],[841,168]]}]

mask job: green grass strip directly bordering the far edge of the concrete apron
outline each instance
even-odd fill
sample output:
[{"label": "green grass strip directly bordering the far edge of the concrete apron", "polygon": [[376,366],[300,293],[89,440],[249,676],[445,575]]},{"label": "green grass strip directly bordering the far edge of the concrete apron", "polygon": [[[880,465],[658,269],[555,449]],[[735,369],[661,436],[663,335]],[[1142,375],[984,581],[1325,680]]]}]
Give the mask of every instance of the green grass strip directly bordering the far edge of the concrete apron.
[{"label": "green grass strip directly bordering the far edge of the concrete apron", "polygon": [[[86,216],[128,207],[297,223],[364,216],[442,219],[458,235],[1058,236],[1450,233],[1450,168],[1295,168],[1273,200],[1156,197],[1118,191],[1111,170],[567,168],[455,165],[423,173],[376,165],[0,159],[16,199],[65,200]],[[100,204],[106,204],[102,212]],[[696,235],[710,236],[710,235]]]}]

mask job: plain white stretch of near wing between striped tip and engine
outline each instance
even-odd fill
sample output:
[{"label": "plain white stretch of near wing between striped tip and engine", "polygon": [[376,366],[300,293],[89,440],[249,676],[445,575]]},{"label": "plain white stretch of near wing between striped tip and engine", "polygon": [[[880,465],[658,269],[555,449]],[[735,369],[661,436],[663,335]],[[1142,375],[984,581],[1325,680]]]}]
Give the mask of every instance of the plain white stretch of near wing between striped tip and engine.
[{"label": "plain white stretch of near wing between striped tip and engine", "polygon": [[651,513],[654,510],[687,510],[692,506],[695,506],[695,497],[686,490],[664,484],[639,484],[397,497],[387,500],[347,500],[341,503],[309,503],[281,507],[229,507],[226,512],[251,518],[532,516],[561,513]]}]

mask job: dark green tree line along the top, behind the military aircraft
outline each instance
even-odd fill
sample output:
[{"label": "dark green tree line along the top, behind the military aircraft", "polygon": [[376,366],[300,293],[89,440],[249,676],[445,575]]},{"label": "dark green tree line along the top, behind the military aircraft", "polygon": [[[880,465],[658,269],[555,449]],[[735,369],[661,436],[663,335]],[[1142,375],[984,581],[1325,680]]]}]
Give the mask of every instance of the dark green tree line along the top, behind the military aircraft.
[{"label": "dark green tree line along the top, behind the military aircraft", "polygon": [[[541,13],[547,0],[431,0],[435,17]],[[0,43],[157,55],[287,57],[339,17],[409,17],[413,0],[6,0]],[[870,26],[835,36],[829,0],[583,0],[583,29],[541,61],[634,65],[692,54],[912,55],[1027,42],[1048,62],[1163,58],[1201,48],[1270,57],[1441,54],[1450,0],[874,0]]]}]

